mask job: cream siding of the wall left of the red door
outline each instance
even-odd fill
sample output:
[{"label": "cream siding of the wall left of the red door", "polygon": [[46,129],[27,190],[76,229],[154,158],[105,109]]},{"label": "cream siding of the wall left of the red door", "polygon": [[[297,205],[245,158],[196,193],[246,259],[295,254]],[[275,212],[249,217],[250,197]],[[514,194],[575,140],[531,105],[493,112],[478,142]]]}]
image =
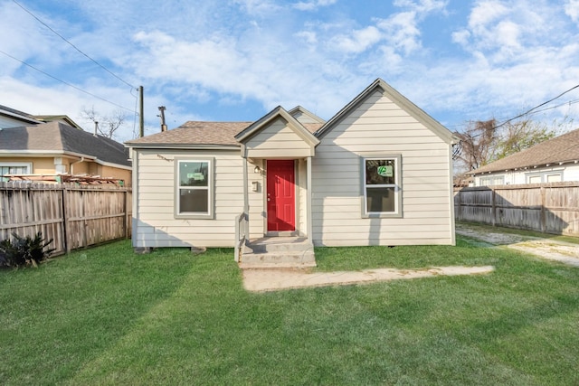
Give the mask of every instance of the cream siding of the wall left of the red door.
[{"label": "cream siding of the wall left of the red door", "polygon": [[[214,219],[175,218],[175,158],[214,158]],[[233,247],[235,216],[243,210],[240,151],[138,150],[135,247]],[[134,187],[135,188],[135,187]]]}]

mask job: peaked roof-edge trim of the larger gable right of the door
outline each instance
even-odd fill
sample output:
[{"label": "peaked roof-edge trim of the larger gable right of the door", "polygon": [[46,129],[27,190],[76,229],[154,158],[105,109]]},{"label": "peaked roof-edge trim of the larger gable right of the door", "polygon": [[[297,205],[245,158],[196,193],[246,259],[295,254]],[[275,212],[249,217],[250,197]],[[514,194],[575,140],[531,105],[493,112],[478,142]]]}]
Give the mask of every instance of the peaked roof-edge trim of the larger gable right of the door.
[{"label": "peaked roof-edge trim of the larger gable right of the door", "polygon": [[452,144],[455,138],[453,137],[451,131],[443,127],[437,120],[425,113],[422,108],[414,105],[409,99],[406,99],[400,92],[396,91],[392,86],[386,83],[384,80],[378,78],[372,84],[370,84],[364,91],[352,99],[344,108],[339,110],[337,114],[329,119],[323,127],[320,127],[314,135],[318,138],[324,137],[329,131],[337,126],[344,118],[352,113],[358,106],[369,99],[375,91],[378,90],[382,92],[388,99],[391,99],[399,108],[406,111],[411,117],[415,118],[418,122],[422,123],[425,127],[429,128],[434,134],[448,143]]}]

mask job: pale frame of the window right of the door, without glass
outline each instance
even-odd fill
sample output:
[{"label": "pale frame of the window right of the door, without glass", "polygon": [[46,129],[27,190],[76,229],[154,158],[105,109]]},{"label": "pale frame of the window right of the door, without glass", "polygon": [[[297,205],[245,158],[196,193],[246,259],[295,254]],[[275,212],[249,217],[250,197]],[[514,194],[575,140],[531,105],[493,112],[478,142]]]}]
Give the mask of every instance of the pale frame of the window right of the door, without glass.
[{"label": "pale frame of the window right of the door, without glass", "polygon": [[[394,186],[394,212],[367,212],[366,203],[366,184],[365,184],[365,161],[366,160],[394,160],[394,185],[371,185],[371,187],[392,187]],[[401,218],[402,217],[402,155],[366,155],[360,157],[360,197],[362,204],[362,218],[363,219],[383,219],[383,218]]]}]

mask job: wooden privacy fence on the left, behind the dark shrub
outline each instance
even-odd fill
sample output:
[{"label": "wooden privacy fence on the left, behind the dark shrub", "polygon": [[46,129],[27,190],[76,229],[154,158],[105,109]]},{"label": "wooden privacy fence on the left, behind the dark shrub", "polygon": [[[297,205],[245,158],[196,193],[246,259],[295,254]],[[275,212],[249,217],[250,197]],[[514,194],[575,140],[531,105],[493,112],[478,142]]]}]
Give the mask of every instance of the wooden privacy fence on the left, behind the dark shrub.
[{"label": "wooden privacy fence on the left, behind the dark shrub", "polygon": [[0,240],[53,239],[53,254],[130,238],[131,188],[111,185],[0,183]]}]

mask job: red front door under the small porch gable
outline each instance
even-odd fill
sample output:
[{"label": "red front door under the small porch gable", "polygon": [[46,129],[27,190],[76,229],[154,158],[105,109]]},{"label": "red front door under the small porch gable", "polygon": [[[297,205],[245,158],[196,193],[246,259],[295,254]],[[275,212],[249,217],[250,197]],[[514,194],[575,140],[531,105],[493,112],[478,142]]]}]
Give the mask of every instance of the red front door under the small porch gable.
[{"label": "red front door under the small porch gable", "polygon": [[296,174],[293,160],[267,162],[268,231],[296,230]]}]

